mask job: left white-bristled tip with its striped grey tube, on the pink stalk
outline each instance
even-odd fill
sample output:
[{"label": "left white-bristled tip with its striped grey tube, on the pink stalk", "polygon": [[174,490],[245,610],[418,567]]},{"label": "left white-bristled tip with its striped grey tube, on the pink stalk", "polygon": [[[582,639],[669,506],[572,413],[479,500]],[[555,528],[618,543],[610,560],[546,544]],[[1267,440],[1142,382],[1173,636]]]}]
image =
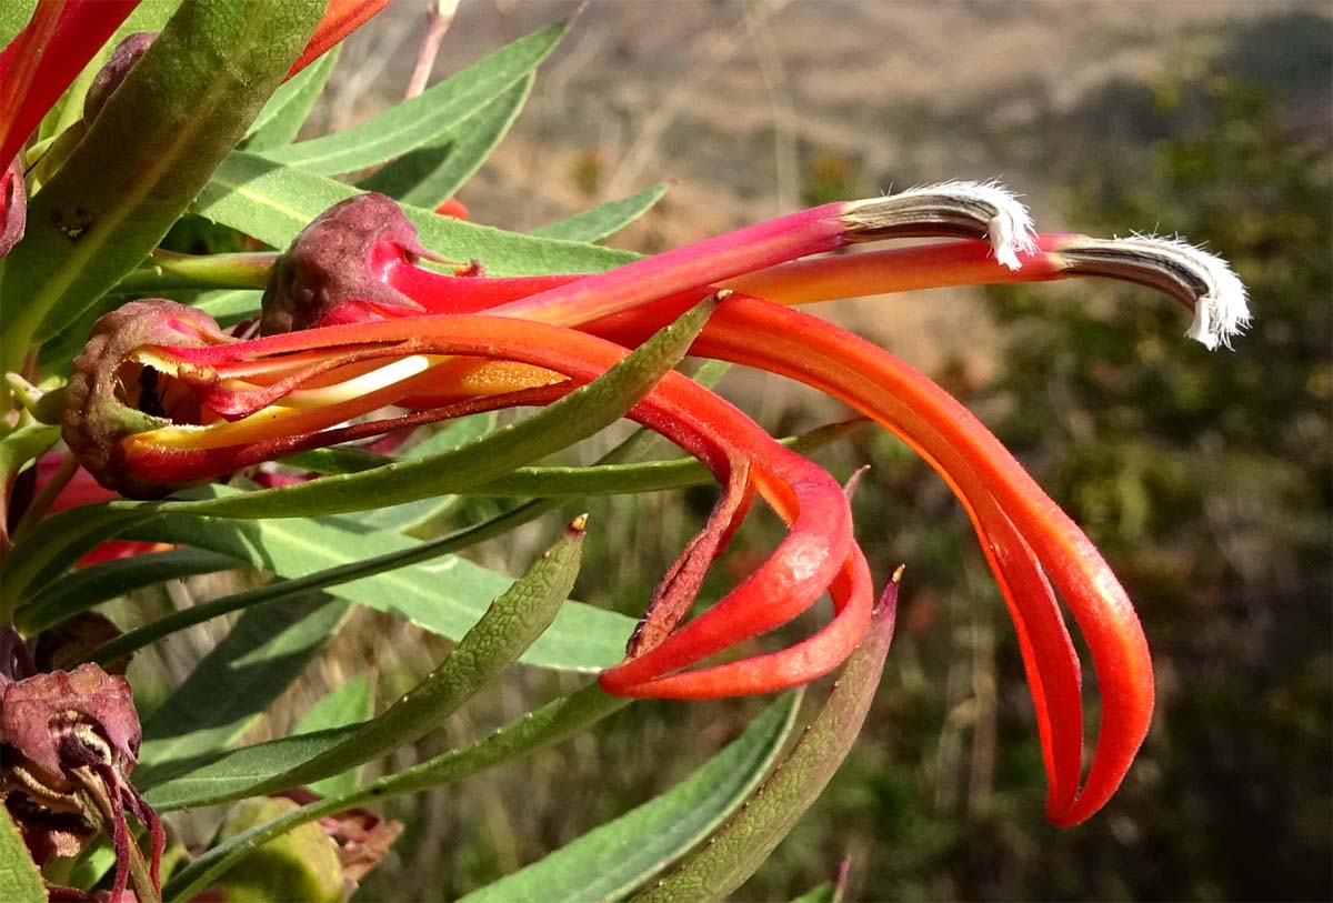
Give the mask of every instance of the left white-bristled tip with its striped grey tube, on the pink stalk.
[{"label": "left white-bristled tip with its striped grey tube, on the pink stalk", "polygon": [[996,261],[1022,266],[1018,253],[1032,250],[1028,208],[997,182],[948,181],[865,201],[842,213],[852,236],[862,241],[894,237],[966,237],[990,242]]}]

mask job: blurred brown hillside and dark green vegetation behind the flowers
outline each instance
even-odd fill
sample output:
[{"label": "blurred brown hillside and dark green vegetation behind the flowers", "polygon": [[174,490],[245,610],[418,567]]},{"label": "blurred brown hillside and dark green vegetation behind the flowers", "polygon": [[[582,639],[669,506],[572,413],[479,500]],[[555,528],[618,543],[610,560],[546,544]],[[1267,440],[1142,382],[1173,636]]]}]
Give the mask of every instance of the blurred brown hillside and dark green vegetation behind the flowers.
[{"label": "blurred brown hillside and dark green vegetation behind the flowers", "polygon": [[[563,17],[464,0],[436,76]],[[399,91],[420,4],[347,48],[319,116]],[[1330,73],[1328,7],[1280,3],[593,4],[460,197],[532,228],[659,178],[616,244],[702,237],[890,184],[1002,176],[1052,230],[1181,233],[1230,260],[1254,328],[1181,338],[1177,305],[1109,284],[940,292],[828,316],[936,376],[1085,526],[1153,647],[1153,733],[1112,804],[1060,831],[1012,627],[962,511],[902,445],[865,432],[858,534],[906,562],[898,637],[852,758],[737,899],[790,899],[850,859],[849,899],[1330,899]],[[721,384],[766,426],[841,414],[776,380]],[[593,501],[579,598],[637,613],[710,491]],[[467,510],[476,513],[484,503]],[[556,529],[480,550],[520,569]],[[748,525],[712,594],[768,549]],[[371,667],[381,699],[440,647],[359,615],[288,705]],[[392,767],[573,683],[525,673]],[[818,694],[816,694],[818,695]],[[451,899],[670,786],[760,702],[629,707],[589,737],[395,810],[408,823],[357,899]],[[280,725],[276,727],[281,729]]]}]

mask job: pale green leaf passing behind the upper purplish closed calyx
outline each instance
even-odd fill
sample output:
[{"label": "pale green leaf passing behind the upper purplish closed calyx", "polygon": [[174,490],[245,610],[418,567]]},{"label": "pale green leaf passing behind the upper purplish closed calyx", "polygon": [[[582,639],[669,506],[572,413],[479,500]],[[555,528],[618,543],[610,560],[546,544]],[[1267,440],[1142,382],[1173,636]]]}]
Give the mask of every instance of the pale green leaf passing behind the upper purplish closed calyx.
[{"label": "pale green leaf passing behind the upper purplish closed calyx", "polygon": [[[287,248],[311,220],[361,193],[327,176],[232,152],[200,192],[195,212],[273,248]],[[451,260],[480,260],[492,276],[596,273],[635,260],[628,252],[501,232],[411,204],[403,205],[403,212],[423,245]]]}]

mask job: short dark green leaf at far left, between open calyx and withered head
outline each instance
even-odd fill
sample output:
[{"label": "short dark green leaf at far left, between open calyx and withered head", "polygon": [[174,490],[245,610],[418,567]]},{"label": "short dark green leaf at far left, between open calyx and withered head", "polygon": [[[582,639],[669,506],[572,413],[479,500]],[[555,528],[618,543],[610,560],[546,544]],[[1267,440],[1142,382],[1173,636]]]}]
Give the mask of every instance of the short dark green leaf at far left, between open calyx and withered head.
[{"label": "short dark green leaf at far left, between open calyx and withered head", "polygon": [[233,559],[201,549],[169,549],[104,561],[56,578],[33,594],[15,619],[31,635],[131,590],[232,567],[236,567]]}]

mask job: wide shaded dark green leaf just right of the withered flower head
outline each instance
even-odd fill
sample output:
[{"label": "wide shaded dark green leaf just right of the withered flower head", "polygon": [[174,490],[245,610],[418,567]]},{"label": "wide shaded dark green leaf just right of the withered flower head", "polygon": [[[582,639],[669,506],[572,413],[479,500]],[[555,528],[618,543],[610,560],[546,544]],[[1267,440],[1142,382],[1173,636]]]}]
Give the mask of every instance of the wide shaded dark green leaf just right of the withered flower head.
[{"label": "wide shaded dark green leaf just right of the withered flower head", "polygon": [[311,594],[243,614],[144,722],[140,762],[220,750],[255,723],[324,643],[349,603]]}]

